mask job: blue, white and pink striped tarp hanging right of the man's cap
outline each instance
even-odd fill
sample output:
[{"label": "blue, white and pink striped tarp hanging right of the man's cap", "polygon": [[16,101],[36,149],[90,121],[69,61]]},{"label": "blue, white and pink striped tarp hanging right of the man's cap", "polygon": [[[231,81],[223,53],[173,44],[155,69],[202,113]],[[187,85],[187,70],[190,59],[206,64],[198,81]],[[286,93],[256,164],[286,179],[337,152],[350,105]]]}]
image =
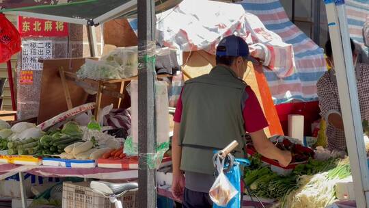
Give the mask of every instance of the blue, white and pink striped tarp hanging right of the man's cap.
[{"label": "blue, white and pink striped tarp hanging right of the man's cap", "polygon": [[278,0],[244,0],[241,4],[247,12],[258,16],[267,29],[293,46],[294,74],[281,79],[271,70],[264,70],[274,103],[316,101],[316,81],[327,70],[323,49],[290,21]]}]

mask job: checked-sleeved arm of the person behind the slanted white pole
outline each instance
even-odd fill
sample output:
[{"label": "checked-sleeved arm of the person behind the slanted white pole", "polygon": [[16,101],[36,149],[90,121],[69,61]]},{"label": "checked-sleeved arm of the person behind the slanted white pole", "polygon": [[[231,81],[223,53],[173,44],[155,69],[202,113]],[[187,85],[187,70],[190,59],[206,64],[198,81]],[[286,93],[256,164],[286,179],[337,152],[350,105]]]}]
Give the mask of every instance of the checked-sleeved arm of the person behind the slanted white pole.
[{"label": "checked-sleeved arm of the person behind the slanted white pole", "polygon": [[317,94],[319,99],[320,116],[324,118],[330,125],[338,129],[344,129],[340,107],[338,106],[338,98],[331,92],[333,86],[329,81],[329,74],[323,75],[316,83]]}]

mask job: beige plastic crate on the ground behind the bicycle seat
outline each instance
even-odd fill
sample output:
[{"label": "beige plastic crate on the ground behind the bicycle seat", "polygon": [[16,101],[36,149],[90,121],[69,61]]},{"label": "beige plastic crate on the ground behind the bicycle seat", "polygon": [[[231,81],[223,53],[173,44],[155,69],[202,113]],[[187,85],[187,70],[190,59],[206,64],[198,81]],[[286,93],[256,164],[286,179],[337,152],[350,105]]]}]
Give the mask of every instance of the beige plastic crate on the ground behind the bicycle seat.
[{"label": "beige plastic crate on the ground behind the bicycle seat", "polygon": [[[118,197],[124,208],[138,207],[137,192],[126,192]],[[63,208],[115,208],[109,198],[92,192],[90,183],[63,183]]]}]

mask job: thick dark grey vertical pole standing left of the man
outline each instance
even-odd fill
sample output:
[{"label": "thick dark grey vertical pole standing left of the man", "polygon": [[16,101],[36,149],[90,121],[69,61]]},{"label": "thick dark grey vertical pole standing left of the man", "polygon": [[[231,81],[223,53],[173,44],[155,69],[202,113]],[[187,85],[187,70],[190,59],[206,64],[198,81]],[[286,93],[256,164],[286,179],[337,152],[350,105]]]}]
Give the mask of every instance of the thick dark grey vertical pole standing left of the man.
[{"label": "thick dark grey vertical pole standing left of the man", "polygon": [[139,79],[138,79],[138,127],[139,127],[139,207],[156,207],[156,170],[148,167],[149,156],[156,153],[156,126],[154,102],[154,47],[155,8],[153,0],[139,0]]}]

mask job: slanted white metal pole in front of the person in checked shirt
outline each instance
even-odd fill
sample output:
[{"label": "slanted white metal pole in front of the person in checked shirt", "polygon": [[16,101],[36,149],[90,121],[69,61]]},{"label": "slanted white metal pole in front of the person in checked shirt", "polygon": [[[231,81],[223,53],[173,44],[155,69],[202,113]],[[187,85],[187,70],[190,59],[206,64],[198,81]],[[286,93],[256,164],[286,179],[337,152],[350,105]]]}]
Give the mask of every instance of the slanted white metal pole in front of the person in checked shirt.
[{"label": "slanted white metal pole in front of the person in checked shirt", "polygon": [[[369,207],[369,169],[344,1],[325,0],[357,207]],[[367,196],[366,196],[367,195]]]}]

